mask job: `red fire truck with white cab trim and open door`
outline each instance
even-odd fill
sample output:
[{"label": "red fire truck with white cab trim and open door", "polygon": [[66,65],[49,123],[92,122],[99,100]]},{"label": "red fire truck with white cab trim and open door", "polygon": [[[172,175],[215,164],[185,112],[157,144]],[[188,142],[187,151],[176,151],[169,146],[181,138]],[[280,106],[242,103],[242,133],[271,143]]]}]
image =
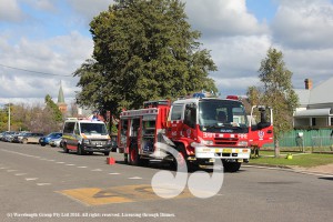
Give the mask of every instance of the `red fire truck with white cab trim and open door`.
[{"label": "red fire truck with white cab trim and open door", "polygon": [[[258,124],[251,121],[254,110],[260,119]],[[118,135],[118,145],[129,164],[161,160],[192,168],[221,159],[229,172],[238,171],[242,162],[249,161],[251,147],[272,141],[272,109],[253,107],[249,120],[236,97],[180,99],[172,104],[168,100],[149,101],[143,109],[120,114]],[[168,149],[165,152],[161,145],[175,149],[180,157],[173,157]]]}]

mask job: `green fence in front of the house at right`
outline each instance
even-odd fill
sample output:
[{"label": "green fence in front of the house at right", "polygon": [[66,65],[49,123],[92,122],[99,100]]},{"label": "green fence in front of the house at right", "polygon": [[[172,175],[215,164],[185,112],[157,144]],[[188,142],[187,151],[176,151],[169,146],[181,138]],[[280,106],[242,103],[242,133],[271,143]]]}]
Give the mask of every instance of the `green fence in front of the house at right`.
[{"label": "green fence in front of the house at right", "polygon": [[[302,134],[302,137],[300,137]],[[284,133],[280,139],[281,148],[309,148],[312,151],[333,151],[332,129],[321,130],[293,130]],[[266,144],[265,148],[273,148],[274,144]]]}]

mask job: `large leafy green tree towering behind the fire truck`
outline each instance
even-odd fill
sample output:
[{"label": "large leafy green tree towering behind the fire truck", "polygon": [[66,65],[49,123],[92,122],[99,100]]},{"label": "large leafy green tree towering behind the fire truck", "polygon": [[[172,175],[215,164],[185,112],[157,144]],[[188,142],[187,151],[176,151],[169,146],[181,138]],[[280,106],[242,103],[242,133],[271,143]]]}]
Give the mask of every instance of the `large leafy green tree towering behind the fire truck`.
[{"label": "large leafy green tree towering behind the fire truck", "polygon": [[81,105],[118,114],[143,101],[218,91],[216,67],[201,49],[180,0],[115,0],[90,23],[93,59],[75,72]]}]

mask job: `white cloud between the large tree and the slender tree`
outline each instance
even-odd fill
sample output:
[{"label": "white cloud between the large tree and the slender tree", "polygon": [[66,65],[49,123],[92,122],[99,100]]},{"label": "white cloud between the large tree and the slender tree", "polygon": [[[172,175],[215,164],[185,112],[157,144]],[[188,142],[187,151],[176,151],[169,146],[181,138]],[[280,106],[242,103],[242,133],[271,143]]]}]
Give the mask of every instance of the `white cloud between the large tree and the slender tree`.
[{"label": "white cloud between the large tree and the slender tree", "polygon": [[258,83],[261,60],[270,48],[266,23],[246,10],[245,0],[188,0],[185,11],[193,29],[202,32],[219,71],[210,77],[222,94],[244,94]]}]

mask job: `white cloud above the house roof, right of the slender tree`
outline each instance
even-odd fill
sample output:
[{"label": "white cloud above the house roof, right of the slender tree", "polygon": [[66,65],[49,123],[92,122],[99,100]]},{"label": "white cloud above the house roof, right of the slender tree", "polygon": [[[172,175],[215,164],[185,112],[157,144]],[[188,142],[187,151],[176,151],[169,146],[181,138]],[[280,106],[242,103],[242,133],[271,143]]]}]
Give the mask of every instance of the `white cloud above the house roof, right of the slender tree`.
[{"label": "white cloud above the house roof, right of the slender tree", "polygon": [[314,87],[333,75],[333,4],[330,0],[280,0],[271,29],[281,46],[284,61],[293,72],[293,83]]}]

